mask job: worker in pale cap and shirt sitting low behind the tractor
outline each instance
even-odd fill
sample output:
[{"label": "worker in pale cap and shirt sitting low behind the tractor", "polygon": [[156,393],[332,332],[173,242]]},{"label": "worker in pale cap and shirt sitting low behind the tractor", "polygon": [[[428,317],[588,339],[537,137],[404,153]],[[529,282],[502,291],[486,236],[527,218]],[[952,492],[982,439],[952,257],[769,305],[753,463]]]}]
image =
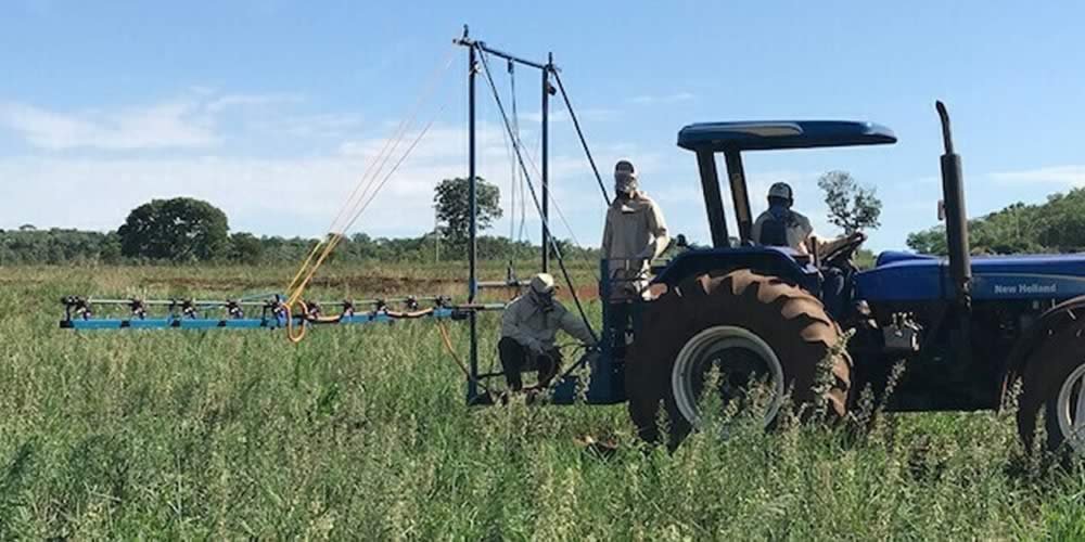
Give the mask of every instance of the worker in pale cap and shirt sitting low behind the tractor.
[{"label": "worker in pale cap and shirt sitting low behind the tractor", "polygon": [[501,339],[497,344],[505,379],[512,391],[523,389],[521,373],[538,371],[538,387],[542,388],[558,374],[561,351],[554,346],[558,330],[593,346],[595,337],[587,324],[553,298],[553,276],[539,273],[532,278],[527,293],[512,300],[501,317]]}]

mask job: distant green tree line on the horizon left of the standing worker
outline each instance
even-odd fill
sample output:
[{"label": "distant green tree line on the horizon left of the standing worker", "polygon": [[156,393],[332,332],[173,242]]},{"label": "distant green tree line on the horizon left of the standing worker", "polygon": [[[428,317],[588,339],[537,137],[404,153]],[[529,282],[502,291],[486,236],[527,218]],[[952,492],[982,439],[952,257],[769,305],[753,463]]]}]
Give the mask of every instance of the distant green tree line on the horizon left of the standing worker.
[{"label": "distant green tree line on the horizon left of the standing worker", "polygon": [[[343,238],[331,261],[433,262],[467,259],[467,181],[438,184],[434,205],[437,228],[417,237],[371,237],[356,233]],[[497,186],[480,179],[480,229],[500,218]],[[230,232],[226,214],[214,205],[189,197],[153,199],[129,212],[114,231],[37,229],[24,224],[0,230],[0,266],[65,263],[279,263],[305,259],[316,238],[257,236]],[[575,259],[598,259],[598,250],[557,241],[561,253]],[[527,241],[481,235],[478,258],[527,260],[537,258],[538,245]]]}]

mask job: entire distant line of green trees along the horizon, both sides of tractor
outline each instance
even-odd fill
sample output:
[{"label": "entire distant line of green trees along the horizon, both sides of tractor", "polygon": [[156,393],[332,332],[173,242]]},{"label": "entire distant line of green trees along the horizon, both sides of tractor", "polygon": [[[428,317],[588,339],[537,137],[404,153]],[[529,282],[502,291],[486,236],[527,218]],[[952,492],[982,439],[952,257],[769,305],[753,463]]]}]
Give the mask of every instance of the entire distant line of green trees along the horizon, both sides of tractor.
[{"label": "entire distant line of green trees along the horizon, both sides of tractor", "polygon": [[[881,202],[873,190],[857,183],[847,172],[830,171],[818,182],[829,206],[829,220],[845,231],[877,228]],[[446,179],[434,190],[438,224],[418,237],[371,237],[357,233],[344,238],[334,261],[381,260],[432,262],[467,257],[468,181]],[[480,179],[478,225],[489,228],[501,217],[497,186]],[[1048,196],[1042,204],[1016,203],[1001,210],[969,220],[975,254],[1085,251],[1085,188]],[[24,224],[0,230],[0,266],[63,263],[277,263],[304,259],[318,240],[256,236],[229,231],[225,212],[207,202],[178,197],[155,199],[132,209],[117,230],[110,232],[72,229],[37,229]],[[559,241],[563,255],[574,259],[598,259],[598,249]],[[907,245],[923,254],[945,255],[945,227],[937,225],[908,235]],[[480,259],[525,260],[536,258],[539,246],[526,241],[481,235]]]}]

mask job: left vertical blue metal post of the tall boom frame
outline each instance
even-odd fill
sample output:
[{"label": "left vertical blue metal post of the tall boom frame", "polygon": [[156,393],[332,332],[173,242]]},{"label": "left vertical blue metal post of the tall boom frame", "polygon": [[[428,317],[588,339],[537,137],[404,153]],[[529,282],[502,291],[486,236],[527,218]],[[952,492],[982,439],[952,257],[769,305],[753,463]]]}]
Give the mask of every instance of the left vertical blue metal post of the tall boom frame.
[{"label": "left vertical blue metal post of the tall boom frame", "polygon": [[[465,33],[464,33],[465,34]],[[475,75],[477,73],[477,61],[475,59],[475,46],[468,48],[468,211],[471,215],[470,229],[468,234],[468,302],[475,302],[478,294],[478,278],[476,275],[475,250],[478,248],[478,201],[475,193]],[[471,350],[469,360],[471,364],[471,378],[468,379],[468,402],[473,402],[478,396],[478,323],[477,314],[470,311],[468,317],[471,328]]]}]

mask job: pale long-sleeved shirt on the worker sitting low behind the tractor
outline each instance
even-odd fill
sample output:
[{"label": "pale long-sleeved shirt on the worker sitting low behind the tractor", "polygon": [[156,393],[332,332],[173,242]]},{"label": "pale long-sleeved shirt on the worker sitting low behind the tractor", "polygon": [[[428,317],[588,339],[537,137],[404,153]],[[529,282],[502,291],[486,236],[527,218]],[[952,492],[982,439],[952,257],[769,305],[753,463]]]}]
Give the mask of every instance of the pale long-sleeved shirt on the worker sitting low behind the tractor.
[{"label": "pale long-sleeved shirt on the worker sitting low behind the tractor", "polygon": [[553,348],[558,330],[564,331],[584,344],[595,343],[584,320],[557,300],[549,311],[545,311],[536,305],[529,294],[524,294],[513,299],[501,315],[502,337],[509,337],[524,347],[539,351]]}]

